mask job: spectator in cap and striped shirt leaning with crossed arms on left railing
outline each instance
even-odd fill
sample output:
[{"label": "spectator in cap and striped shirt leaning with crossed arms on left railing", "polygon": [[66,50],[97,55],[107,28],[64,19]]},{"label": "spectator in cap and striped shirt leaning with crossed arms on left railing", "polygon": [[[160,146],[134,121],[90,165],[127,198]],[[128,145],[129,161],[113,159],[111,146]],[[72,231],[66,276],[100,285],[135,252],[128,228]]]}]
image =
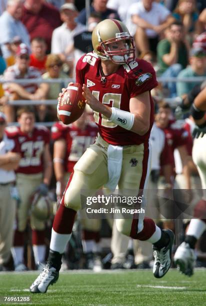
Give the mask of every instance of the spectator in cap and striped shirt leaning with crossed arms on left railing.
[{"label": "spectator in cap and striped shirt leaning with crossed arms on left railing", "polygon": [[[42,94],[35,82],[33,83],[15,83],[18,78],[38,78],[40,72],[33,67],[29,67],[29,53],[28,48],[24,43],[21,43],[16,52],[16,62],[13,66],[8,67],[3,74],[4,80],[13,81],[11,83],[4,83],[3,88],[9,100],[16,99],[40,99]],[[15,108],[12,105],[4,105],[4,112],[7,116],[8,122],[15,120]]]}]

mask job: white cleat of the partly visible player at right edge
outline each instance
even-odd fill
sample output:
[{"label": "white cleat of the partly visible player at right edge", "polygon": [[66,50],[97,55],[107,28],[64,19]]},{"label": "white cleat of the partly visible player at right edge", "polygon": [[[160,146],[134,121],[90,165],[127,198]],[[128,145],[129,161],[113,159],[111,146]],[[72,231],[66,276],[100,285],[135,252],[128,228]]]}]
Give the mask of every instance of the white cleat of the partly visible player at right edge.
[{"label": "white cleat of the partly visible player at right edge", "polygon": [[190,248],[188,243],[182,242],[177,247],[174,254],[174,263],[181,273],[191,276],[193,274],[195,259],[194,250]]}]

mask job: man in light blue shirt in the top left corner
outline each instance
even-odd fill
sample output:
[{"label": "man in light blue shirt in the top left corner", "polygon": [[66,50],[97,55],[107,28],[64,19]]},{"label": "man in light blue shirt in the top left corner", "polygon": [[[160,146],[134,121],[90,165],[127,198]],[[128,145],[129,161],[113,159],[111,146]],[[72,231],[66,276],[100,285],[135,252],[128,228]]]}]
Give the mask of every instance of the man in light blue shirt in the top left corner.
[{"label": "man in light blue shirt in the top left corner", "polygon": [[14,36],[19,36],[22,42],[27,46],[30,45],[29,35],[25,26],[20,21],[22,16],[22,1],[8,0],[7,8],[0,16],[0,45],[3,57],[10,55],[6,43]]}]

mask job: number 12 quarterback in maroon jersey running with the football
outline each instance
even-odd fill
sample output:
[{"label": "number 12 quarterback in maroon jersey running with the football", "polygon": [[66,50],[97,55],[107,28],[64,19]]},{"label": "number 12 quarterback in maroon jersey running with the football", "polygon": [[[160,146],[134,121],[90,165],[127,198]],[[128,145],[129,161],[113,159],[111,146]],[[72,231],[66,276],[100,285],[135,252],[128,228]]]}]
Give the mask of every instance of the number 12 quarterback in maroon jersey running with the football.
[{"label": "number 12 quarterback in maroon jersey running with the football", "polygon": [[[138,192],[142,196],[148,180],[154,108],[150,90],[157,85],[155,72],[148,62],[135,60],[133,37],[118,20],[99,22],[92,32],[92,45],[94,51],[76,64],[76,82],[94,111],[99,132],[69,177],[54,218],[48,261],[30,286],[33,293],[46,292],[58,279],[61,256],[81,206],[80,190],[92,195],[103,185],[114,190],[118,184],[124,196]],[[174,234],[161,230],[141,211],[133,219],[116,219],[116,226],[125,235],[153,244],[153,274],[162,277],[171,264]]]}]

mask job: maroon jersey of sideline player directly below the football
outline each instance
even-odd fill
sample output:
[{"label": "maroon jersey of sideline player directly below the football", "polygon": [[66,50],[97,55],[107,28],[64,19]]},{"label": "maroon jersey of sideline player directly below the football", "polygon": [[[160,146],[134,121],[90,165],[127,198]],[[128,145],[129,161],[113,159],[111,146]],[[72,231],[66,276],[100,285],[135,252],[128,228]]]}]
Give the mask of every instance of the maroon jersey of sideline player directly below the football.
[{"label": "maroon jersey of sideline player directly below the football", "polygon": [[56,122],[51,128],[51,138],[55,141],[64,139],[66,141],[66,153],[64,157],[64,169],[72,172],[76,161],[85,152],[87,147],[94,142],[97,128],[93,124],[86,124],[84,129],[80,129],[73,124],[65,125]]}]

